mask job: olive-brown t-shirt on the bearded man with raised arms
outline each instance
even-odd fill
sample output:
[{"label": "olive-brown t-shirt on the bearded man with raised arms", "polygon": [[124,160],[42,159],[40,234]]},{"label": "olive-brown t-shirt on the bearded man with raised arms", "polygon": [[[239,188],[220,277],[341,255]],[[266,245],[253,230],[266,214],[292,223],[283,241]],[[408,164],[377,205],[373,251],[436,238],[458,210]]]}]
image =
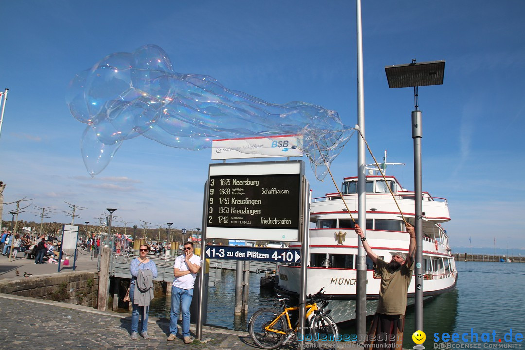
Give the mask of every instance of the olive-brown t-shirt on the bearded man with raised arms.
[{"label": "olive-brown t-shirt on the bearded man with raised arms", "polygon": [[412,262],[412,266],[404,264],[400,269],[392,272],[388,270],[386,261],[377,258],[376,266],[377,272],[381,274],[379,305],[377,305],[376,312],[387,315],[404,315],[414,263]]}]

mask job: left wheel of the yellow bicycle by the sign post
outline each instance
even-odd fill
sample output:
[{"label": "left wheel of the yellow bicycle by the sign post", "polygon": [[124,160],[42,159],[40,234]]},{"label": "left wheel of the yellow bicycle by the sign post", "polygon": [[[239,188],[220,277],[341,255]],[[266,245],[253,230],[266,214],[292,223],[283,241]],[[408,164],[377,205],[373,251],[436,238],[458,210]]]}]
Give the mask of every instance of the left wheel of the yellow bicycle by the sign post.
[{"label": "left wheel of the yellow bicycle by the sign post", "polygon": [[[275,309],[260,309],[251,316],[248,328],[250,331],[250,337],[255,344],[265,349],[275,349],[282,344],[285,337],[284,334],[265,329],[265,327],[272,323],[279,314],[280,312]],[[280,319],[272,326],[272,329],[286,332],[287,326],[285,320],[280,317]]]}]

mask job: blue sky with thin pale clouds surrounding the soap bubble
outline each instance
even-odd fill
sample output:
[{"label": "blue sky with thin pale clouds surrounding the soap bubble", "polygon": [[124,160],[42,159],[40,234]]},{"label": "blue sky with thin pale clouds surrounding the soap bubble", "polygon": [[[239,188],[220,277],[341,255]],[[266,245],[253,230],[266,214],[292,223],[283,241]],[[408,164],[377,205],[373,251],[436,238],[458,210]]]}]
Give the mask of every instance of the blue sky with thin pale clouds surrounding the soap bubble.
[{"label": "blue sky with thin pale clouds surrounding the soap bubble", "polygon": [[[525,249],[525,3],[521,0],[364,1],[365,133],[376,157],[413,189],[412,89],[388,89],[384,66],[446,60],[445,83],[419,89],[423,188],[449,200],[453,246]],[[84,124],[65,103],[68,82],[116,51],[161,46],[174,69],[210,75],[272,103],[306,101],[356,124],[352,1],[14,1],[0,11],[0,88],[9,88],[0,140],[5,201],[107,207],[129,225],[200,228],[211,151],[172,149],[144,137],[123,143],[91,178],[80,156]],[[371,158],[369,157],[369,162]],[[356,138],[332,165],[356,174]],[[334,192],[308,178],[313,195]],[[10,219],[4,209],[4,220]],[[31,210],[36,211],[36,210]],[[30,213],[25,220],[38,220]],[[66,221],[65,214],[51,218]]]}]

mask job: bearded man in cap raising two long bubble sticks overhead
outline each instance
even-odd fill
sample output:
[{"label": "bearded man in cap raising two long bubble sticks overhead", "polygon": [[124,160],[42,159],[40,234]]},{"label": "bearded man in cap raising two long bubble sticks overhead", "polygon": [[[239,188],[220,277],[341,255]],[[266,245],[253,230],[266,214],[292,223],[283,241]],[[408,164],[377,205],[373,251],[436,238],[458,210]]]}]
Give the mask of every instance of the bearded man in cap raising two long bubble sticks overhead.
[{"label": "bearded man in cap raising two long bubble sticks overhead", "polygon": [[374,262],[376,271],[381,274],[379,304],[364,344],[365,348],[401,349],[403,347],[406,298],[414,271],[414,252],[416,250],[414,227],[407,222],[406,230],[410,235],[408,254],[392,253],[392,260],[388,263],[377,257],[366,241],[361,227],[355,225],[355,233],[361,237],[366,254]]}]

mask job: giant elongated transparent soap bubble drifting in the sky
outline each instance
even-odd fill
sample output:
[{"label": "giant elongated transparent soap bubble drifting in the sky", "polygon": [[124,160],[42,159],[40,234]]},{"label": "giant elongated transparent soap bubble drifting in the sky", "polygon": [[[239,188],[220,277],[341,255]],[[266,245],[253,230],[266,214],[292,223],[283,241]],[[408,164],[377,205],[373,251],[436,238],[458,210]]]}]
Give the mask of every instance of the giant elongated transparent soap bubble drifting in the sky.
[{"label": "giant elongated transparent soap bubble drifting in the sky", "polygon": [[202,150],[215,139],[297,134],[322,179],[353,133],[335,111],[306,102],[269,103],[209,76],[177,73],[156,45],[103,58],[71,80],[66,100],[71,114],[88,125],[81,152],[91,176],[109,164],[124,140],[139,135]]}]

